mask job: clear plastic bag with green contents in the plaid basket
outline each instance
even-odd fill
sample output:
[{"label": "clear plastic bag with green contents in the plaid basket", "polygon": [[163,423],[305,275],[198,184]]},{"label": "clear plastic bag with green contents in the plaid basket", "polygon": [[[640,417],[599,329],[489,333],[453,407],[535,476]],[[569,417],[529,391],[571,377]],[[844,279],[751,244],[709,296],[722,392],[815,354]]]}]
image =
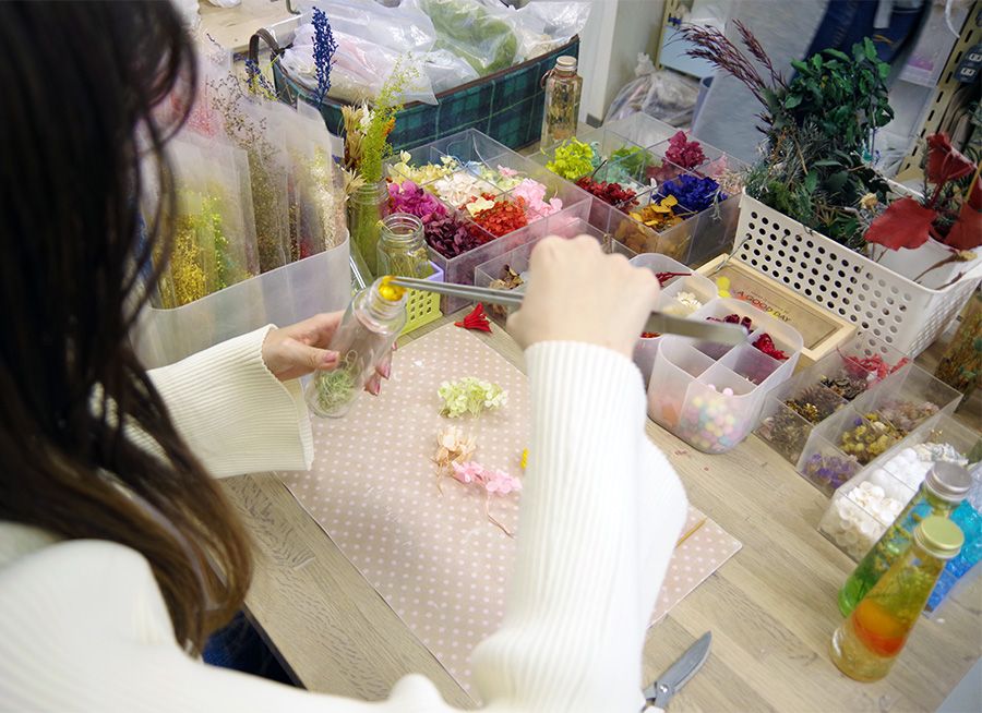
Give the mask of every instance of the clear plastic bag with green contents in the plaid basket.
[{"label": "clear plastic bag with green contents in the plaid basket", "polygon": [[436,29],[434,49],[448,49],[480,76],[507,69],[518,57],[518,36],[504,7],[486,8],[477,0],[404,0],[418,7]]}]

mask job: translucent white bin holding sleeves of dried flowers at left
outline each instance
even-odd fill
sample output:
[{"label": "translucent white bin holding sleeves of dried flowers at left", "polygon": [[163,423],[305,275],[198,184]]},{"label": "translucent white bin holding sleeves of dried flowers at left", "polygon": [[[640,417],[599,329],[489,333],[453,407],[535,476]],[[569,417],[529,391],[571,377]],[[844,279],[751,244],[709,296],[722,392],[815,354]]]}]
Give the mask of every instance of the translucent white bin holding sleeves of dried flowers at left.
[{"label": "translucent white bin holding sleeves of dried flowers at left", "polygon": [[173,310],[146,307],[132,336],[147,368],[267,324],[286,326],[351,300],[348,240]]}]

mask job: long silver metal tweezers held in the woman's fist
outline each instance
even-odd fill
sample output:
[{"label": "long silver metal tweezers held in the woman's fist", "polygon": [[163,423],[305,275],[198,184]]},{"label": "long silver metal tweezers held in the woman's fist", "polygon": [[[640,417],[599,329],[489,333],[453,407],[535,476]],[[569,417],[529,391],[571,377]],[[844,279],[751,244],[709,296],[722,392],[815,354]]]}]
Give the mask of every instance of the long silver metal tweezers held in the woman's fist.
[{"label": "long silver metal tweezers held in the woman's fist", "polygon": [[[512,290],[495,290],[489,287],[475,287],[470,285],[452,285],[448,282],[431,282],[415,277],[393,277],[391,285],[404,287],[408,290],[421,290],[435,292],[447,297],[463,298],[472,302],[490,302],[507,307],[522,305],[524,294]],[[736,324],[711,322],[708,319],[685,319],[661,312],[652,312],[645,324],[645,331],[657,335],[679,335],[703,339],[718,345],[742,345],[746,341],[747,331]]]}]

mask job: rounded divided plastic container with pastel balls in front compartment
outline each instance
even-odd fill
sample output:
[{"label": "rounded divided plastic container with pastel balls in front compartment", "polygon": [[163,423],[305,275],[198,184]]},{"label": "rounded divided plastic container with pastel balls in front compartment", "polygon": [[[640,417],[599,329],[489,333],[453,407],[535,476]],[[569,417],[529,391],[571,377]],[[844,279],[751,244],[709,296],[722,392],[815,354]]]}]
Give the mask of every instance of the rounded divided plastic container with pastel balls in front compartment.
[{"label": "rounded divided plastic container with pastel balls in front compartment", "polygon": [[[714,298],[688,318],[750,317],[747,341],[729,347],[667,335],[658,340],[648,382],[648,415],[687,444],[721,454],[754,428],[764,397],[794,373],[802,348],[793,328],[746,302]],[[753,342],[764,333],[787,353],[778,361]]]}]

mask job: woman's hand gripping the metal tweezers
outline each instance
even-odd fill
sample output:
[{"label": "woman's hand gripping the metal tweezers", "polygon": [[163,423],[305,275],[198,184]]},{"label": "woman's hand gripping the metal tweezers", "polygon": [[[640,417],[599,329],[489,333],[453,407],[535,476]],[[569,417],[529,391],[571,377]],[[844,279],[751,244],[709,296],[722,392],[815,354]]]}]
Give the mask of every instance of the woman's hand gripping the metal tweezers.
[{"label": "woman's hand gripping the metal tweezers", "polygon": [[604,255],[589,235],[549,237],[532,251],[522,307],[507,329],[523,349],[584,341],[631,359],[661,290],[651,270]]}]

